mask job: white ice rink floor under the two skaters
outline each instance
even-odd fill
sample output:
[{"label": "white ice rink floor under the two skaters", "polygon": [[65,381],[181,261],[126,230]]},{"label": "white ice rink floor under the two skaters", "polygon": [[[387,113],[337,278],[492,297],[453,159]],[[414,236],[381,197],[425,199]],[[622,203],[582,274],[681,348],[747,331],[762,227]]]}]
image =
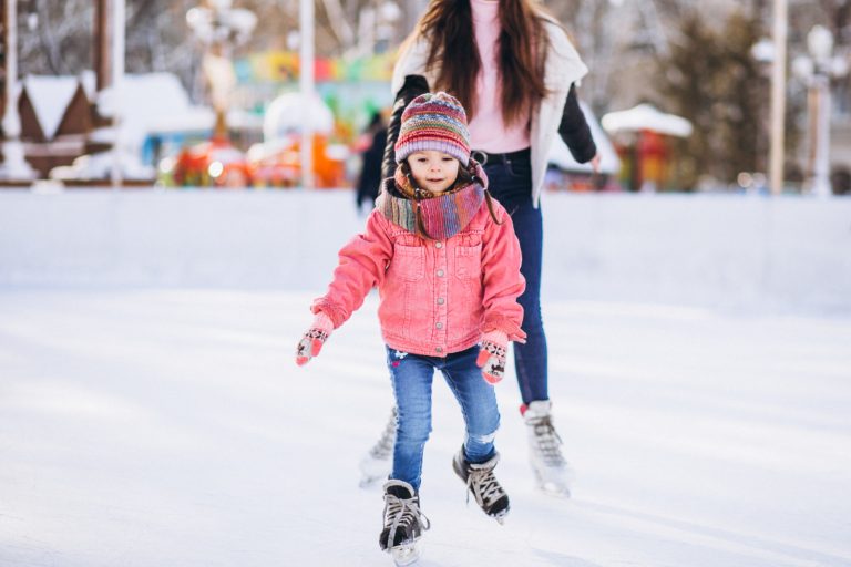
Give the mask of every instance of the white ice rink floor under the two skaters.
[{"label": "white ice rink floor under the two skaters", "polygon": [[[391,405],[376,298],[297,368],[316,295],[0,288],[0,565],[391,565],[357,470]],[[438,378],[422,567],[851,565],[851,319],[544,313],[574,495],[533,488],[512,371],[512,512],[466,505]]]}]

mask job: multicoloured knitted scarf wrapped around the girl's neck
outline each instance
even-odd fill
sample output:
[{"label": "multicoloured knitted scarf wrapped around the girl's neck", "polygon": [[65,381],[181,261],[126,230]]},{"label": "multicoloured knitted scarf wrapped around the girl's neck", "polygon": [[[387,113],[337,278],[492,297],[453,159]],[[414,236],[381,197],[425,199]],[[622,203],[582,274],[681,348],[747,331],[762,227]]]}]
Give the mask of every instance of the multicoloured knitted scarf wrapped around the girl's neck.
[{"label": "multicoloured knitted scarf wrapped around the girl's neck", "polygon": [[[471,161],[471,166],[475,174],[473,183],[419,200],[422,224],[430,238],[444,240],[453,237],[470,224],[470,220],[482,206],[488,177],[479,164]],[[385,187],[376,200],[376,208],[391,223],[410,233],[418,234],[414,190],[402,173],[402,168],[397,167],[393,179],[387,179],[387,183],[388,185],[392,184],[396,192],[390,192],[388,187]],[[400,195],[397,196],[391,193]]]}]

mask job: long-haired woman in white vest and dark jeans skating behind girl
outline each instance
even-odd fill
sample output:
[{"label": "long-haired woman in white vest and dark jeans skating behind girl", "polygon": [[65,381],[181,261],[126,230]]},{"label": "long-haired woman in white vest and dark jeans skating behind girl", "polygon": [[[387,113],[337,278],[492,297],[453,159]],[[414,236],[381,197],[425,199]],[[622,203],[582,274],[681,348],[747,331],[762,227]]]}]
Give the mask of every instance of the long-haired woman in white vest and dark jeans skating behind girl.
[{"label": "long-haired woman in white vest and dark jeans skating behind girl", "polygon": [[[393,144],[411,100],[441,90],[461,101],[470,116],[472,155],[484,166],[492,195],[511,214],[523,255],[526,290],[519,302],[527,339],[514,346],[514,360],[532,468],[541,488],[563,495],[570,494],[567,466],[551,417],[541,320],[540,196],[556,134],[577,162],[598,168],[576,99],[576,82],[585,73],[562,27],[533,0],[431,0],[393,70],[396,104],[383,169],[385,177],[392,174]],[[361,462],[365,483],[389,470],[394,415]]]}]

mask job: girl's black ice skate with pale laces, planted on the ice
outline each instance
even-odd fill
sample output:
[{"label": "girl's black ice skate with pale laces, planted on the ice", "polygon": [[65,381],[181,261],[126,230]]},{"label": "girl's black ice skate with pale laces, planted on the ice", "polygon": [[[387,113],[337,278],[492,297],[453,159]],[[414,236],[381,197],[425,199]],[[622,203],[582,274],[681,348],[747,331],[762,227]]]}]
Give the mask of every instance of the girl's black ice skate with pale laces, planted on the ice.
[{"label": "girl's black ice skate with pale laces, planted on the ice", "polygon": [[429,529],[429,518],[420,512],[420,497],[404,481],[385,483],[385,527],[378,538],[396,565],[410,565],[420,558],[419,540]]}]

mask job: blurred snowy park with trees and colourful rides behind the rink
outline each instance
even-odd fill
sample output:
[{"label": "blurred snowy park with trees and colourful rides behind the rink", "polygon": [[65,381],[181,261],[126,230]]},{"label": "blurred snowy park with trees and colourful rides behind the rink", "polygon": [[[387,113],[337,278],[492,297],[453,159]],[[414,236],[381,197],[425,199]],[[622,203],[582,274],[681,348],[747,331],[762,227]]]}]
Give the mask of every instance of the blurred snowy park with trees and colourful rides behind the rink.
[{"label": "blurred snowy park with trees and colourful rides behind the rink", "polygon": [[[426,3],[4,0],[0,179],[352,188]],[[554,148],[550,190],[851,190],[850,2],[547,8],[591,68],[604,157],[592,178]]]}]

